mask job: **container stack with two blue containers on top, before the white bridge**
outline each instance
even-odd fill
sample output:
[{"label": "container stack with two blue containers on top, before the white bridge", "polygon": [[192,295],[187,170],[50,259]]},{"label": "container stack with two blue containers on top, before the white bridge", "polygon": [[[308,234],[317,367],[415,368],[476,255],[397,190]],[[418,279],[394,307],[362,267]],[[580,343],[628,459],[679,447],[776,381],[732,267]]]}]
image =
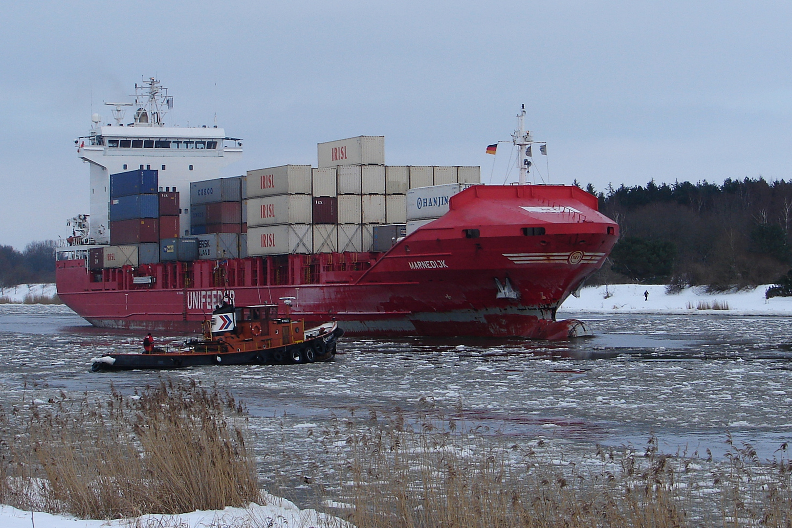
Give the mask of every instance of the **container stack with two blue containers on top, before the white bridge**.
[{"label": "container stack with two blue containers on top, before the white bridge", "polygon": [[[114,259],[118,247],[134,245],[135,264],[159,262],[159,241],[179,235],[179,193],[176,188],[158,191],[158,171],[131,170],[110,176],[110,244],[105,268],[131,259]],[[124,249],[126,255],[131,255]]]}]

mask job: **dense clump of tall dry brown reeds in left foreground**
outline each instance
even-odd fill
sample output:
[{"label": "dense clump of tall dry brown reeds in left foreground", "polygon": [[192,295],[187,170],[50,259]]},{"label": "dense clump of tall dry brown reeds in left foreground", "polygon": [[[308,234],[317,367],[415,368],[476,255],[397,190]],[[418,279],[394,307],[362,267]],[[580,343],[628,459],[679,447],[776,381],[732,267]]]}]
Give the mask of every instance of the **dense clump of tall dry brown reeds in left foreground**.
[{"label": "dense clump of tall dry brown reeds in left foreground", "polygon": [[[245,506],[259,496],[242,408],[195,383],[32,405],[6,447],[5,502],[86,519]],[[18,487],[23,486],[19,484]],[[8,484],[6,484],[8,488]]]}]

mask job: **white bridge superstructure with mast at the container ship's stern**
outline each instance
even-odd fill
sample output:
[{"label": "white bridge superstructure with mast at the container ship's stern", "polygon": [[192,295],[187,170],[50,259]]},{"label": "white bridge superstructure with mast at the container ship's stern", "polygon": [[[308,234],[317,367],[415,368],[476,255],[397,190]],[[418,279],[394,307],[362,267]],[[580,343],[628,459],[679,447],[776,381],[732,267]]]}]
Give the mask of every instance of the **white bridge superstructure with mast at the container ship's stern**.
[{"label": "white bridge superstructure with mast at the container ship's stern", "polygon": [[[90,134],[76,142],[78,156],[90,165],[90,237],[109,244],[110,174],[134,169],[157,169],[160,190],[180,192],[181,234],[189,234],[190,182],[220,177],[220,169],[242,158],[242,142],[216,125],[166,127],[173,97],[154,78],[135,85],[134,103],[105,104],[116,123],[103,126],[93,114]],[[134,116],[124,125],[127,109]]]}]

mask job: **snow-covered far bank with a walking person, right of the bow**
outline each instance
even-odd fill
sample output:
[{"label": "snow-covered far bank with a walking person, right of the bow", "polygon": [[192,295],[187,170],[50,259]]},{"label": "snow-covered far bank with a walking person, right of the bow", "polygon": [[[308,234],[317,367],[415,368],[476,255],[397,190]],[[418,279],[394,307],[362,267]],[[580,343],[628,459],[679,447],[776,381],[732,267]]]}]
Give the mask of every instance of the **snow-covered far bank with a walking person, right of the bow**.
[{"label": "snow-covered far bank with a walking person, right of the bow", "polygon": [[[764,298],[771,285],[725,293],[703,287],[665,293],[664,284],[611,284],[584,287],[580,298],[566,299],[559,313],[705,313],[707,315],[792,315],[792,297]],[[645,300],[644,292],[649,292]],[[728,310],[712,310],[714,306]],[[709,309],[708,309],[709,307]]]}]

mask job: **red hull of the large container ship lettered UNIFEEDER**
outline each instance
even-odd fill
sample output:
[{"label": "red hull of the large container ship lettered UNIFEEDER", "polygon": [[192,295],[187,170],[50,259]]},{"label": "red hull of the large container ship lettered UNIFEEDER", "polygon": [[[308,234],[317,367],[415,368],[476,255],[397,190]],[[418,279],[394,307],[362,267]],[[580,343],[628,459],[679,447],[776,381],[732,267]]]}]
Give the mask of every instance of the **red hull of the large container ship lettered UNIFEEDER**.
[{"label": "red hull of the large container ship lettered UNIFEEDER", "polygon": [[[543,231],[539,231],[539,227]],[[539,234],[543,233],[543,234]],[[250,257],[89,272],[60,261],[58,292],[93,325],[192,331],[224,294],[293,297],[307,325],[347,335],[565,337],[555,310],[604,262],[618,226],[564,186],[477,186],[387,253]],[[133,284],[133,276],[154,277]]]}]

